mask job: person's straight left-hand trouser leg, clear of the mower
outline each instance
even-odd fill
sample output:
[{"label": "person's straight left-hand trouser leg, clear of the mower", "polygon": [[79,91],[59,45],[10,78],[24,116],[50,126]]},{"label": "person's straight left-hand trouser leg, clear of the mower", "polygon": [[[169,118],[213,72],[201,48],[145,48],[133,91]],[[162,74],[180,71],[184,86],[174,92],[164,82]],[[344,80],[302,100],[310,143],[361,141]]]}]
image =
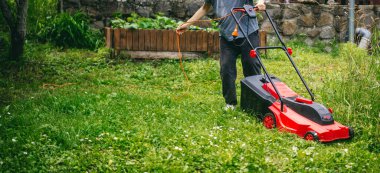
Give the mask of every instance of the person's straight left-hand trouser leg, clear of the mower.
[{"label": "person's straight left-hand trouser leg, clear of the mower", "polygon": [[222,79],[223,97],[226,104],[236,105],[236,57],[238,48],[225,38],[220,37],[220,77]]}]

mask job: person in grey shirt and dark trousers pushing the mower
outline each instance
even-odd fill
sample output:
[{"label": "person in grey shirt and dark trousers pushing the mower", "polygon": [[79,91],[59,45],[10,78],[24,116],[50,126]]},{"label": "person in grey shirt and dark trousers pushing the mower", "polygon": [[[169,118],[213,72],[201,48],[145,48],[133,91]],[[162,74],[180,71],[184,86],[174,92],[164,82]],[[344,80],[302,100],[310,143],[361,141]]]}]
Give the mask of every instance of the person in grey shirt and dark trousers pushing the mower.
[{"label": "person in grey shirt and dark trousers pushing the mower", "polygon": [[[221,18],[228,15],[232,8],[243,7],[245,4],[253,4],[252,0],[204,0],[204,4],[197,12],[184,24],[178,26],[177,32],[185,32],[192,22],[201,19],[211,9],[216,17]],[[255,5],[258,10],[265,10],[264,0],[258,0]],[[236,13],[238,18],[242,15]],[[254,47],[259,46],[258,22],[256,18],[243,16],[240,18],[242,30],[238,29],[238,36],[232,36],[236,28],[236,22],[232,16],[228,16],[219,21],[220,29],[220,76],[222,80],[222,93],[225,99],[225,109],[235,109],[237,105],[236,97],[236,59],[241,54],[243,74],[245,77],[261,74],[261,66],[257,59],[250,58],[250,45],[245,40],[242,32],[248,35]]]}]

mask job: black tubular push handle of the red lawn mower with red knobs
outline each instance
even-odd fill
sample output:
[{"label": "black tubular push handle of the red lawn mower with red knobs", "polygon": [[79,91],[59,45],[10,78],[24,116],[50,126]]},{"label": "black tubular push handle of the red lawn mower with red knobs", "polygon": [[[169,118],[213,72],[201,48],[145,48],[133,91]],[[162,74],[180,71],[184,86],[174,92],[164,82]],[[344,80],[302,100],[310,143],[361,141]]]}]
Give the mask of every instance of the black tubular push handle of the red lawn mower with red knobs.
[{"label": "black tubular push handle of the red lawn mower with red knobs", "polygon": [[[255,8],[256,8],[256,7],[252,7],[252,9],[255,9]],[[277,28],[274,26],[273,20],[272,20],[272,18],[269,16],[268,12],[267,12],[266,10],[263,10],[263,11],[265,12],[265,14],[267,15],[267,17],[268,17],[268,19],[269,19],[269,21],[270,21],[270,23],[271,23],[271,25],[272,25],[272,27],[273,27],[273,29],[274,29],[276,35],[277,35],[277,38],[280,40],[282,46],[266,46],[266,47],[256,47],[256,48],[255,48],[255,47],[252,45],[251,41],[248,39],[248,35],[247,35],[247,33],[245,33],[245,32],[243,31],[243,28],[241,27],[241,25],[240,25],[240,23],[239,23],[239,20],[237,19],[236,15],[235,15],[235,12],[247,13],[245,9],[246,9],[246,8],[241,8],[241,7],[232,8],[232,9],[231,9],[231,15],[232,15],[232,17],[234,18],[236,24],[238,25],[239,30],[243,33],[244,37],[246,38],[248,44],[251,46],[251,49],[254,50],[254,51],[256,51],[257,60],[259,61],[261,67],[263,68],[263,71],[264,71],[264,73],[265,73],[265,76],[268,78],[269,82],[272,84],[272,86],[273,86],[274,90],[276,91],[276,93],[277,93],[277,95],[278,95],[278,98],[279,98],[279,100],[280,100],[280,102],[281,102],[281,111],[283,111],[283,101],[282,101],[281,93],[278,91],[277,87],[274,85],[274,82],[273,82],[272,79],[270,78],[267,69],[265,68],[264,64],[263,64],[262,61],[261,61],[261,58],[260,58],[260,51],[258,51],[258,50],[261,50],[261,49],[264,49],[264,50],[266,50],[266,49],[282,49],[282,50],[284,50],[285,53],[286,53],[286,55],[287,55],[287,57],[288,57],[288,59],[289,59],[290,62],[292,63],[294,69],[296,70],[296,72],[297,72],[299,78],[301,79],[302,83],[304,84],[306,90],[308,91],[308,93],[309,93],[309,95],[310,95],[310,97],[311,97],[311,100],[314,101],[314,95],[313,95],[313,93],[312,93],[311,90],[309,89],[308,85],[306,84],[306,81],[303,79],[303,77],[302,77],[300,71],[298,70],[298,68],[297,68],[296,64],[294,63],[293,59],[291,58],[291,56],[290,56],[290,54],[289,54],[289,52],[288,52],[288,48],[286,47],[285,43],[283,42],[283,40],[282,40],[282,38],[281,38],[281,36],[280,36],[280,34],[279,34]]]}]

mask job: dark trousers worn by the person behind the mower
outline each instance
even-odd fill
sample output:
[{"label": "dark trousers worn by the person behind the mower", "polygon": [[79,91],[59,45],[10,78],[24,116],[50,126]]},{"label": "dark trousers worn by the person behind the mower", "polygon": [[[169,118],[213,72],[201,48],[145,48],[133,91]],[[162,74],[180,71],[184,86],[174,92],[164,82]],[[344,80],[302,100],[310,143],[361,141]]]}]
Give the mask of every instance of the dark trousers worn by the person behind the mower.
[{"label": "dark trousers worn by the person behind the mower", "polygon": [[[253,47],[259,46],[258,31],[248,36]],[[227,41],[220,37],[220,77],[222,79],[223,97],[226,104],[236,105],[236,59],[241,54],[243,74],[245,77],[261,74],[261,66],[257,58],[251,58],[249,52],[251,47],[245,38]]]}]

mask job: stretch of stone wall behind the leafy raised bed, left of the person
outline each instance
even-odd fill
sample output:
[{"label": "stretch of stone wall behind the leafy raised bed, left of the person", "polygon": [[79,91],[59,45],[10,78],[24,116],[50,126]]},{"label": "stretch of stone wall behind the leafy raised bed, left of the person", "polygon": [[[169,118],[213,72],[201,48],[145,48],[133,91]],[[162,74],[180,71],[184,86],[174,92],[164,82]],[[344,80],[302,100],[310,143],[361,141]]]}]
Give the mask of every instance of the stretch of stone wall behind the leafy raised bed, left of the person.
[{"label": "stretch of stone wall behind the leafy raised bed, left of the person", "polygon": [[112,16],[115,12],[130,14],[136,12],[150,17],[155,13],[163,13],[179,19],[189,18],[203,4],[204,0],[63,0],[66,11],[79,9],[93,18]]}]

